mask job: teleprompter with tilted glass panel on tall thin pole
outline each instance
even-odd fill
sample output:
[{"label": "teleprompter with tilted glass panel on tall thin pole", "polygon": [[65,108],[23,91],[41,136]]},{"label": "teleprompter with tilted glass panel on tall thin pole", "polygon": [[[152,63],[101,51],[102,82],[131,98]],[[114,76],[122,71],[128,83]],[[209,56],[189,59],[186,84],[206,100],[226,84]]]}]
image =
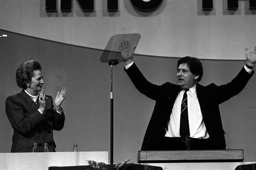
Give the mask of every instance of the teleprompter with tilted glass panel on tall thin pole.
[{"label": "teleprompter with tilted glass panel on tall thin pole", "polygon": [[122,41],[129,41],[130,48],[137,46],[140,40],[140,34],[117,34],[113,35],[106,48],[104,49],[100,61],[103,63],[108,63],[110,65],[110,164],[113,164],[113,149],[114,149],[114,93],[113,93],[113,66],[116,66],[119,62],[124,61],[122,55],[119,51],[119,45]]}]

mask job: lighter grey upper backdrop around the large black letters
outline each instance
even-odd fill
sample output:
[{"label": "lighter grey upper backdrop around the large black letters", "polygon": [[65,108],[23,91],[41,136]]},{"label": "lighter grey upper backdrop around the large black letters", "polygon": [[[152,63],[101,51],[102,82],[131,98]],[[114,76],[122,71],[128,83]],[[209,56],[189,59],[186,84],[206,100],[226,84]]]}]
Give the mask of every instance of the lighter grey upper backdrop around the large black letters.
[{"label": "lighter grey upper backdrop around the large black letters", "polygon": [[46,13],[45,0],[0,0],[0,28],[96,49],[114,34],[140,33],[140,55],[201,59],[241,60],[240,48],[252,48],[256,39],[249,0],[239,0],[238,10],[227,10],[227,0],[213,0],[212,11],[202,11],[202,0],[163,0],[148,13],[130,0],[118,0],[118,12],[108,12],[107,0],[94,0],[94,12],[82,12],[78,0],[71,12],[61,12],[57,2],[58,11]]}]

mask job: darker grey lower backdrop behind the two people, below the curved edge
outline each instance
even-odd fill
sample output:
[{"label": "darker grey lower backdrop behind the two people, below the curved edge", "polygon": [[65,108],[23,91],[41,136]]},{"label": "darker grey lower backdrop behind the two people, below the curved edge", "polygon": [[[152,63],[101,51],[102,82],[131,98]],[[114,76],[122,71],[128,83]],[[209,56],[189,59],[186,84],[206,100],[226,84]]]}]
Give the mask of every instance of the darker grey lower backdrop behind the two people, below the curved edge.
[{"label": "darker grey lower backdrop behind the two people, below the curved edge", "polygon": [[[66,122],[54,131],[57,151],[110,149],[110,66],[100,63],[102,51],[66,45],[2,31],[0,39],[0,152],[10,152],[12,127],[5,113],[5,100],[21,91],[15,82],[19,64],[35,59],[42,64],[44,89],[55,97],[62,86],[68,88],[62,107]],[[135,55],[134,60],[152,83],[176,82],[177,58]],[[204,76],[200,82],[225,84],[232,80],[244,61],[202,60]],[[124,72],[124,63],[113,68],[114,162],[136,162],[155,102],[140,94]],[[226,142],[230,149],[244,149],[245,161],[256,160],[256,78],[242,93],[220,105]]]}]

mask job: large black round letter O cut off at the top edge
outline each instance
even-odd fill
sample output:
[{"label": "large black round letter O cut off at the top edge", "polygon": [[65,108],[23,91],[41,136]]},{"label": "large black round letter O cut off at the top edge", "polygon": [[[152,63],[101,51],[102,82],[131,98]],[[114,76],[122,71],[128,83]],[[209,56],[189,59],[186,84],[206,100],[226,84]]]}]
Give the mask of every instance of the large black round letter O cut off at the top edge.
[{"label": "large black round letter O cut off at the top edge", "polygon": [[132,5],[140,11],[150,12],[158,8],[162,0],[130,0]]}]

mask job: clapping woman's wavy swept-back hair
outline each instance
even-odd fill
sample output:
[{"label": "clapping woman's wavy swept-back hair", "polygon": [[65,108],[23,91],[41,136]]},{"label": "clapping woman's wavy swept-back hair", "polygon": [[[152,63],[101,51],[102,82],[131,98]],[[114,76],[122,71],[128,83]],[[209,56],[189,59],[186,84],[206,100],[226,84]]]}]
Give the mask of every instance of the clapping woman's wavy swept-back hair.
[{"label": "clapping woman's wavy swept-back hair", "polygon": [[28,60],[20,64],[16,70],[16,82],[20,88],[27,88],[27,84],[31,82],[31,78],[34,75],[34,70],[41,71],[41,64],[35,60]]}]

